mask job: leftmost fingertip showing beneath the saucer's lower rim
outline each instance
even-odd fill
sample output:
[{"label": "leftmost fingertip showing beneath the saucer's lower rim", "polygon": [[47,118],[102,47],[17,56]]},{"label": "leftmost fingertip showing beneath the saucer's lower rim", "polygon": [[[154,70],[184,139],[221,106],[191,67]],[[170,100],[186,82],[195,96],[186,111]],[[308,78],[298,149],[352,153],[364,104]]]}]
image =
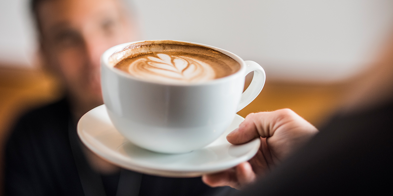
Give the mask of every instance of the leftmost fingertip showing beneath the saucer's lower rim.
[{"label": "leftmost fingertip showing beneath the saucer's lower rim", "polygon": [[239,187],[234,168],[219,173],[205,174],[202,176],[202,181],[211,187]]}]

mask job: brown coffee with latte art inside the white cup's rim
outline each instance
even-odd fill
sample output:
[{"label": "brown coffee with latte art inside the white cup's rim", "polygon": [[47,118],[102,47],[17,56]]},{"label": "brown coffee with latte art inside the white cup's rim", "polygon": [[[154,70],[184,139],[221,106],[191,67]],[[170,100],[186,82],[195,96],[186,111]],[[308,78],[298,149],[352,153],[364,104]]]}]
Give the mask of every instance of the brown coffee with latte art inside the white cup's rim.
[{"label": "brown coffee with latte art inside the white cup's rim", "polygon": [[166,83],[200,83],[240,69],[237,61],[219,51],[170,40],[131,44],[113,54],[109,62],[141,80]]}]

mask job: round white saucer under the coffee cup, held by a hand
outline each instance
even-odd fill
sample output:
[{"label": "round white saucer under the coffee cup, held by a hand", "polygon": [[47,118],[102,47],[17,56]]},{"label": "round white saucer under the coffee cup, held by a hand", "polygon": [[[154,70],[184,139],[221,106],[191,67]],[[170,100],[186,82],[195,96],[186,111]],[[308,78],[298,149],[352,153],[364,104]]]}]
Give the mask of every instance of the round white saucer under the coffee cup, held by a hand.
[{"label": "round white saucer under the coffee cup, held by a hand", "polygon": [[84,114],[77,131],[89,149],[125,169],[156,176],[196,177],[231,168],[255,155],[259,139],[242,145],[232,145],[226,140],[226,135],[243,120],[236,114],[230,127],[215,142],[185,154],[162,154],[132,144],[114,128],[105,105]]}]

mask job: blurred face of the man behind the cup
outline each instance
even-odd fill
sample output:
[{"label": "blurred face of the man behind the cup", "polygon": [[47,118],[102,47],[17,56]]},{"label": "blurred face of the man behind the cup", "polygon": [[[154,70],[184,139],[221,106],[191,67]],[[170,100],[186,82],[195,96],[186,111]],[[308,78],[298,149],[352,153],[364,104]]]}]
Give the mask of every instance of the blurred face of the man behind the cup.
[{"label": "blurred face of the man behind the cup", "polygon": [[134,39],[120,6],[117,0],[51,0],[38,6],[44,57],[77,104],[102,103],[100,56]]}]

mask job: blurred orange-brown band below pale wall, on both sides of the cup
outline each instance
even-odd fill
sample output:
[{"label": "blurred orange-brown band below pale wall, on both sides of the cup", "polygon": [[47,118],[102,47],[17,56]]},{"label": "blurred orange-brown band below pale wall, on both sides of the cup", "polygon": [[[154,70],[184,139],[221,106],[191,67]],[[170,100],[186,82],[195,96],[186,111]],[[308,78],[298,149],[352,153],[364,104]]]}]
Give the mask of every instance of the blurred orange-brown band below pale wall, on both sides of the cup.
[{"label": "blurred orange-brown band below pale wall, on both sides of the cup", "polygon": [[[290,108],[318,127],[334,113],[342,94],[341,85],[336,84],[267,80],[261,94],[238,114],[245,117],[249,113]],[[39,69],[0,66],[1,149],[4,149],[9,129],[18,116],[33,107],[51,102],[60,95],[61,90],[55,78]],[[3,152],[0,153],[2,156]]]}]

